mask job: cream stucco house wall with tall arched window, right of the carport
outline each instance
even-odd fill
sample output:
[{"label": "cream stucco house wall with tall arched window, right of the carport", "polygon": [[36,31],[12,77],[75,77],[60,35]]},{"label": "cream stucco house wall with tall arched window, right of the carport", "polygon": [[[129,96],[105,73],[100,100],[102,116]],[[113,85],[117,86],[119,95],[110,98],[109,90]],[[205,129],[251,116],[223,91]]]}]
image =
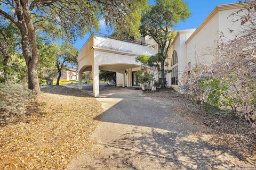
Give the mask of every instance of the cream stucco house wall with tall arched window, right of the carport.
[{"label": "cream stucco house wall with tall arched window, right of the carport", "polygon": [[[234,39],[234,33],[231,33],[230,29],[236,32],[241,30],[239,22],[232,22],[238,18],[230,15],[243,6],[243,3],[217,6],[197,29],[178,31],[169,49],[168,60],[169,70],[178,66],[178,80],[188,65],[193,67],[199,63],[214,64],[215,57],[212,53],[217,48],[220,33],[228,39]],[[178,63],[175,65],[172,64],[174,50],[178,55]],[[166,75],[167,86],[178,90],[181,84],[172,83],[172,74],[173,72]]]}]

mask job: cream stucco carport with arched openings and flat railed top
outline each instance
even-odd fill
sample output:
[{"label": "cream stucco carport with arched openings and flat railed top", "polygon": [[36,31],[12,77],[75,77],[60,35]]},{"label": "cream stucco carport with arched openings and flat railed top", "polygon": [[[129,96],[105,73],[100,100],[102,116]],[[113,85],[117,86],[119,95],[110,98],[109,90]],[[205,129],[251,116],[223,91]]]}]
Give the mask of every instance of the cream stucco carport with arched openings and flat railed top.
[{"label": "cream stucco carport with arched openings and flat railed top", "polygon": [[123,87],[131,87],[132,71],[140,70],[135,58],[142,54],[155,55],[154,46],[127,43],[94,32],[78,53],[79,89],[82,89],[82,73],[92,71],[93,96],[99,97],[99,70],[122,74]]}]

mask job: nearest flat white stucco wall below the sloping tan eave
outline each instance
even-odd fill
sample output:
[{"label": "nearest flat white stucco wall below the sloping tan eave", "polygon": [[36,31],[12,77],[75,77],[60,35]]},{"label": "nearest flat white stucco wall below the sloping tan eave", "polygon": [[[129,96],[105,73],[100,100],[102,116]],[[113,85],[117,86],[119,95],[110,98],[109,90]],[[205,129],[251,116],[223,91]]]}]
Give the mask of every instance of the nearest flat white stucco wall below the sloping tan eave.
[{"label": "nearest flat white stucco wall below the sloping tan eave", "polygon": [[228,39],[235,38],[234,33],[230,33],[230,29],[238,32],[242,28],[240,22],[233,24],[232,21],[238,18],[230,16],[230,14],[237,10],[238,8],[218,11],[195,37],[187,43],[187,62],[191,62],[191,66],[196,63],[207,65],[214,63],[215,57],[211,53],[217,48],[220,32]]}]

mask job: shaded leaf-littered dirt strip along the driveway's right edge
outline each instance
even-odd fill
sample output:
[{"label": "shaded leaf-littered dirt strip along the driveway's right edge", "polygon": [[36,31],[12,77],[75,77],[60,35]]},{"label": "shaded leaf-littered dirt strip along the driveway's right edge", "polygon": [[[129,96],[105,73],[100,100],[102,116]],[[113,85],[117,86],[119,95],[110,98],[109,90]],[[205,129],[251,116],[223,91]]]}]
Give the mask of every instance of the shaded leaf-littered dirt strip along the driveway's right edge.
[{"label": "shaded leaf-littered dirt strip along the driveway's right edge", "polygon": [[231,113],[207,113],[201,105],[193,105],[173,89],[145,92],[144,95],[172,103],[177,113],[197,126],[202,133],[212,134],[216,145],[226,145],[245,157],[256,161],[256,123],[249,123],[244,116]]}]

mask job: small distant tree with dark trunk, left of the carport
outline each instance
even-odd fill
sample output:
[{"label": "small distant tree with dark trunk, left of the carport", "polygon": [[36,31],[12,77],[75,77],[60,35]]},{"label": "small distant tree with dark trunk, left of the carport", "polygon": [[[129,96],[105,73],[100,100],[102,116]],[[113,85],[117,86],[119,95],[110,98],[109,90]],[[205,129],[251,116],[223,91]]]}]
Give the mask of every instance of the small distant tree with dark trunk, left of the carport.
[{"label": "small distant tree with dark trunk, left of the carport", "polygon": [[77,65],[78,50],[73,45],[63,42],[56,53],[56,67],[58,70],[58,78],[56,85],[59,86],[61,71],[69,64]]}]

